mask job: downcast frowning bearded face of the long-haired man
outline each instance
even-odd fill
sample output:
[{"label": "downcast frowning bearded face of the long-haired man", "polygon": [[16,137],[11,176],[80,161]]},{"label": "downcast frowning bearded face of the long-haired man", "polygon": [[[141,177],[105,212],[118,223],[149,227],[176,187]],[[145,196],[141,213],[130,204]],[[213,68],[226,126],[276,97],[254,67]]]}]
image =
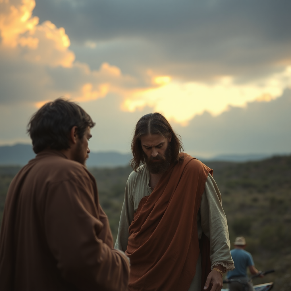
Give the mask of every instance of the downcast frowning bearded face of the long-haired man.
[{"label": "downcast frowning bearded face of the long-haired man", "polygon": [[152,174],[162,174],[170,166],[172,159],[171,137],[148,134],[141,137],[141,147],[145,153],[145,165]]}]

